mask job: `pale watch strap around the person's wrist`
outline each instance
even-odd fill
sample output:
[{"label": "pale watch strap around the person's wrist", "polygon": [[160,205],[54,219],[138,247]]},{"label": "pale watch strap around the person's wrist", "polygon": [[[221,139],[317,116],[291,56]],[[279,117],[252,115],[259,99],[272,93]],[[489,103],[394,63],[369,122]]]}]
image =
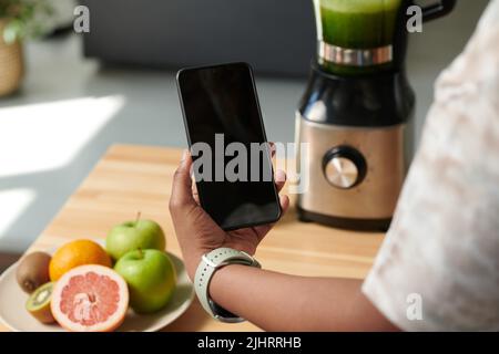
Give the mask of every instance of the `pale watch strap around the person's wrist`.
[{"label": "pale watch strap around the person's wrist", "polygon": [[244,321],[228,311],[222,309],[210,298],[210,281],[215,271],[227,264],[243,264],[262,268],[249,254],[232,248],[218,248],[202,257],[194,277],[194,289],[203,309],[215,320],[222,322],[237,323]]}]

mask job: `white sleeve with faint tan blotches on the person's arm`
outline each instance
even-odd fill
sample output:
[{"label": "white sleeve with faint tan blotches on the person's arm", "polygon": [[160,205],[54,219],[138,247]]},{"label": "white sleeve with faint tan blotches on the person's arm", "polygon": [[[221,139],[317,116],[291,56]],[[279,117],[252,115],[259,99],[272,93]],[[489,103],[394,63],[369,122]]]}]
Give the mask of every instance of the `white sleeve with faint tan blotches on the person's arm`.
[{"label": "white sleeve with faint tan blotches on the person's arm", "polygon": [[363,291],[406,331],[499,330],[499,0],[437,81]]}]

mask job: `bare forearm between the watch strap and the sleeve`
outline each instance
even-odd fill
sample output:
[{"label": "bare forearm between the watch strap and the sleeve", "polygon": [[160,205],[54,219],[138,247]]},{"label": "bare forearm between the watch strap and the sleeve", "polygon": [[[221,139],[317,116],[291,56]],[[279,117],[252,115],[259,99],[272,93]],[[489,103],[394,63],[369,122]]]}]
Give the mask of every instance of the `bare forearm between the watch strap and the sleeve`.
[{"label": "bare forearm between the watch strap and the sleeve", "polygon": [[394,331],[361,281],[287,275],[244,266],[218,270],[212,299],[267,331]]}]

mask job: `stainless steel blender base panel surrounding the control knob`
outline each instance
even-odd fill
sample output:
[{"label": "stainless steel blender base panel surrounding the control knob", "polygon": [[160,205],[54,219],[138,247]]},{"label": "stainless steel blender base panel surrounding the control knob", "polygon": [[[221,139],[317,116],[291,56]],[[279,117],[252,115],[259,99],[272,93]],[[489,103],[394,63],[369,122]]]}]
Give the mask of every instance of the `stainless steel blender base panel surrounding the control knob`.
[{"label": "stainless steel blender base panel surrounding the control knob", "polygon": [[[406,135],[410,132],[405,124],[389,127],[322,124],[304,119],[298,113],[298,142],[309,144],[308,162],[304,164],[309,168],[308,190],[298,196],[301,218],[348,229],[386,229],[409,164],[407,145],[411,139]],[[335,185],[336,177],[325,168],[330,152],[338,147],[358,152],[364,159],[364,176],[359,175],[360,180],[352,187]]]}]

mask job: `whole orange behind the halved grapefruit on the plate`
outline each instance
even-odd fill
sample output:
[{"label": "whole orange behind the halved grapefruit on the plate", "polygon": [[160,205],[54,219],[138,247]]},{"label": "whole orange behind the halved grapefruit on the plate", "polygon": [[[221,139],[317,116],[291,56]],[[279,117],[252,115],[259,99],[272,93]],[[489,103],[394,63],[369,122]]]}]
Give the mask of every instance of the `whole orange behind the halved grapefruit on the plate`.
[{"label": "whole orange behind the halved grapefruit on the plate", "polygon": [[49,264],[50,280],[58,281],[71,269],[85,264],[112,266],[109,254],[94,241],[77,240],[65,243],[52,256]]}]

